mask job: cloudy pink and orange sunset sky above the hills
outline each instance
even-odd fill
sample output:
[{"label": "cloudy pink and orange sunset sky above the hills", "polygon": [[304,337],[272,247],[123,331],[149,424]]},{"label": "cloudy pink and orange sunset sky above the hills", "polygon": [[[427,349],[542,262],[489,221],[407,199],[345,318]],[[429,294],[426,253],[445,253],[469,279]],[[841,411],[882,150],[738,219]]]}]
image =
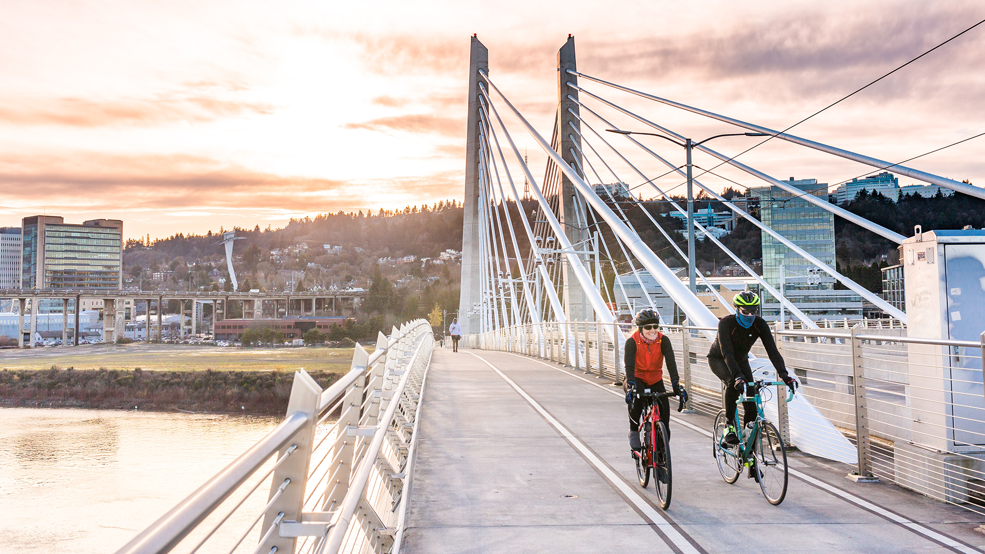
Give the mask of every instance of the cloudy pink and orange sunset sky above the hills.
[{"label": "cloudy pink and orange sunset sky above the hills", "polygon": [[[0,226],[35,214],[121,219],[127,238],[152,239],[461,200],[473,34],[490,50],[493,82],[550,138],[568,34],[586,74],[785,128],[985,19],[985,5],[960,0],[0,0],[0,10]],[[981,133],[982,51],[985,25],[791,132],[891,162]],[[582,85],[695,140],[737,132]],[[546,155],[499,109],[539,180]],[[709,146],[735,155],[751,141]],[[657,142],[648,145],[684,163],[680,149]],[[985,185],[983,147],[985,137],[909,165]],[[648,177],[666,171],[625,152]],[[644,180],[603,157],[612,168],[596,163],[603,180]],[[873,173],[776,140],[740,160],[832,184]],[[694,163],[699,173],[715,166],[701,154]],[[762,184],[730,168],[714,173],[700,178],[716,189]],[[654,182],[682,191],[673,175]]]}]

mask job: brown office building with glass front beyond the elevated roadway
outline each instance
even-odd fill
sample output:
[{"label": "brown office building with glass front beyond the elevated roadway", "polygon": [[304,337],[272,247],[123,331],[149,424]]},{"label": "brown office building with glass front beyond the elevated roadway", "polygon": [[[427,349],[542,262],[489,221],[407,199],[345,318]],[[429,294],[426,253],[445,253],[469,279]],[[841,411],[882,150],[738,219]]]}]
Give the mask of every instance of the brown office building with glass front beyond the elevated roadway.
[{"label": "brown office building with glass front beyond the elevated roadway", "polygon": [[26,289],[122,289],[123,222],[66,224],[57,216],[23,220]]}]

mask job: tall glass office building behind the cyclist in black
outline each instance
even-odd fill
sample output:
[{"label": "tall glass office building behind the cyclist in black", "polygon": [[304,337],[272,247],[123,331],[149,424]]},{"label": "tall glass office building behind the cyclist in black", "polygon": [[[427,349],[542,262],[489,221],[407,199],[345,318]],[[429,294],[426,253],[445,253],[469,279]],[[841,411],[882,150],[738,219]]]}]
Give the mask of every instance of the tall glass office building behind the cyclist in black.
[{"label": "tall glass office building behind the cyclist in black", "polygon": [[[787,184],[803,190],[805,195],[827,198],[827,183],[819,183],[817,179],[791,177]],[[822,263],[834,267],[834,215],[831,212],[778,186],[752,188],[750,195],[759,199],[762,223]],[[862,317],[859,295],[834,290],[833,277],[765,232],[762,232],[762,276],[777,290],[782,281],[787,299],[812,319]],[[778,320],[780,304],[768,296],[762,298],[762,316],[767,320]]]}]

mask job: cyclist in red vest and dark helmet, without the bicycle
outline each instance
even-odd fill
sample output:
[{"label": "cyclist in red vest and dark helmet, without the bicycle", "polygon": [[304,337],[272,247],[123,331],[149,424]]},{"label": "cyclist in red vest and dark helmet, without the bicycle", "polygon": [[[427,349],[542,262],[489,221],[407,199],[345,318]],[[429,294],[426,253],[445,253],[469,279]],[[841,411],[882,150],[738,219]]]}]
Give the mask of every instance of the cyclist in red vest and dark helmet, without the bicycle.
[{"label": "cyclist in red vest and dark helmet, without the bicycle", "polygon": [[[649,308],[640,310],[633,319],[637,329],[626,339],[624,347],[626,403],[629,405],[629,448],[641,450],[639,440],[639,416],[646,407],[646,398],[639,397],[636,392],[649,388],[654,392],[667,392],[664,386],[664,365],[671,377],[674,391],[679,393],[682,402],[687,401],[687,394],[681,388],[677,373],[677,360],[674,358],[674,348],[671,339],[660,332],[660,315]],[[657,399],[660,406],[660,420],[670,423],[671,403],[668,398]],[[670,433],[670,427],[668,427]],[[670,440],[668,435],[667,440]]]}]

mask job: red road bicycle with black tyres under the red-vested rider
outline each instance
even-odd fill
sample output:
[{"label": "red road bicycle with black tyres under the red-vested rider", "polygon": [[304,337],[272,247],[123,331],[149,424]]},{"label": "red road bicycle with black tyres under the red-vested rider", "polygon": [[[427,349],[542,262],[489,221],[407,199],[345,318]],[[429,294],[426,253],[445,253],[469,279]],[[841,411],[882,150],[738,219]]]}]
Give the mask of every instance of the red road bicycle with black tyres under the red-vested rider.
[{"label": "red road bicycle with black tyres under the red-vested rider", "polygon": [[[654,487],[657,489],[657,498],[660,499],[660,508],[667,510],[671,505],[673,484],[671,442],[667,424],[660,421],[660,404],[657,403],[657,399],[677,396],[678,393],[652,392],[649,388],[644,388],[638,394],[647,401],[647,404],[639,416],[639,441],[643,448],[632,451],[632,457],[636,461],[636,477],[639,478],[639,486],[645,489],[650,483],[650,470],[653,470]],[[683,401],[678,411],[682,409],[684,409]]]}]

